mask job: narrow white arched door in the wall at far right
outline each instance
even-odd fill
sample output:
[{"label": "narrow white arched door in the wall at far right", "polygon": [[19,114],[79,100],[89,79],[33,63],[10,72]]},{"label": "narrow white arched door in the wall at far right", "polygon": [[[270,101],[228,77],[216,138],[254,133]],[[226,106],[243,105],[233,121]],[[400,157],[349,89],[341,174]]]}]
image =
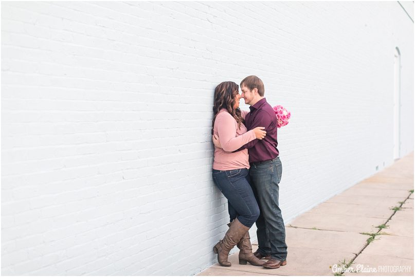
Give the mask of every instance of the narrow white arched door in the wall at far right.
[{"label": "narrow white arched door in the wall at far right", "polygon": [[393,88],[393,159],[400,158],[400,122],[401,122],[401,53],[398,47],[394,55],[394,88]]}]

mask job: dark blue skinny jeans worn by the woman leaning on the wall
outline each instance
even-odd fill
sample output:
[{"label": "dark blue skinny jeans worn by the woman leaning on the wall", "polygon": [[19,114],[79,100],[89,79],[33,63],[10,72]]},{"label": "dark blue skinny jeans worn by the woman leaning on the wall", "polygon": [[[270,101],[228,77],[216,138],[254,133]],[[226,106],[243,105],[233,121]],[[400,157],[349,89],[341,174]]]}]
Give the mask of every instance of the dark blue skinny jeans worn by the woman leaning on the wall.
[{"label": "dark blue skinny jeans worn by the woman leaning on the wall", "polygon": [[247,169],[212,170],[213,181],[228,199],[230,221],[238,217],[240,223],[251,228],[259,216],[259,207],[250,186]]}]

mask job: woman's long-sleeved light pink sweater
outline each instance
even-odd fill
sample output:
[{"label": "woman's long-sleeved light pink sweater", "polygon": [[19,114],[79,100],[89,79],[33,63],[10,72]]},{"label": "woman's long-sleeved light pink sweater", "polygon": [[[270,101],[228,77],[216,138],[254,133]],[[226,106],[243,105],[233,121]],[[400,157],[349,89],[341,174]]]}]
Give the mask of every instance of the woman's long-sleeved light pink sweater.
[{"label": "woman's long-sleeved light pink sweater", "polygon": [[[248,112],[242,110],[242,116]],[[238,122],[228,113],[226,109],[221,109],[215,118],[213,126],[213,134],[219,136],[219,141],[223,149],[215,146],[213,169],[215,170],[233,170],[233,169],[249,169],[248,150],[244,149],[235,153],[242,145],[251,140],[256,139],[253,130],[246,132],[246,127]]]}]

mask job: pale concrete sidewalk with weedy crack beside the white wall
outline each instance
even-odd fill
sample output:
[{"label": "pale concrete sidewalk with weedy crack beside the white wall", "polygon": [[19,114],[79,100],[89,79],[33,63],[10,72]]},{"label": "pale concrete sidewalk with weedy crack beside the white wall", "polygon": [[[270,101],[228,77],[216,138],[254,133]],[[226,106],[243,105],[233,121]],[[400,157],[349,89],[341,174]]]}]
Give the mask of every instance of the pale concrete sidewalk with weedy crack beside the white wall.
[{"label": "pale concrete sidewalk with weedy crack beside the white wall", "polygon": [[[231,267],[216,263],[198,275],[413,275],[413,152],[285,230],[287,265],[240,265],[236,252],[229,256]],[[353,272],[359,269],[365,271]]]}]

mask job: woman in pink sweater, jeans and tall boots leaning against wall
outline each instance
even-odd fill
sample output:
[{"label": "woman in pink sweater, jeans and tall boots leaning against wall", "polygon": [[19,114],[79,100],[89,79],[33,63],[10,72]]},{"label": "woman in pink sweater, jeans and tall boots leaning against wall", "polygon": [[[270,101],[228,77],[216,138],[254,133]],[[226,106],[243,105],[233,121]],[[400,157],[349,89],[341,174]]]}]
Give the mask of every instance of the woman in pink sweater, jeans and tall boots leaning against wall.
[{"label": "woman in pink sweater, jeans and tall boots leaning against wall", "polygon": [[244,118],[247,112],[239,108],[239,86],[234,82],[223,82],[215,88],[213,104],[212,135],[219,137],[223,149],[215,147],[212,169],[213,181],[228,199],[229,229],[225,237],[213,247],[218,253],[221,266],[231,266],[229,251],[237,245],[240,249],[239,263],[249,262],[262,266],[253,253],[248,230],[259,216],[259,207],[250,187],[248,174],[248,150],[235,153],[242,145],[254,139],[263,139],[264,127],[247,132]]}]

